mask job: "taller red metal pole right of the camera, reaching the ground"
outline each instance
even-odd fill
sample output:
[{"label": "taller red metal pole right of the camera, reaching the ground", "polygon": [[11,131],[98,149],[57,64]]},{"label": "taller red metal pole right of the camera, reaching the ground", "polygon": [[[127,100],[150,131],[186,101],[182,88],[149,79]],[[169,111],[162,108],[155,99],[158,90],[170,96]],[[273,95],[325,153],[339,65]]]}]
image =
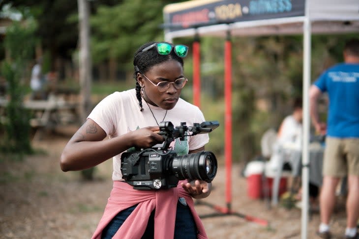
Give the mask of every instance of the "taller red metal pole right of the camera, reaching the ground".
[{"label": "taller red metal pole right of the camera, reaching the ground", "polygon": [[230,32],[227,33],[225,42],[224,61],[226,202],[230,210],[232,201],[232,42]]}]

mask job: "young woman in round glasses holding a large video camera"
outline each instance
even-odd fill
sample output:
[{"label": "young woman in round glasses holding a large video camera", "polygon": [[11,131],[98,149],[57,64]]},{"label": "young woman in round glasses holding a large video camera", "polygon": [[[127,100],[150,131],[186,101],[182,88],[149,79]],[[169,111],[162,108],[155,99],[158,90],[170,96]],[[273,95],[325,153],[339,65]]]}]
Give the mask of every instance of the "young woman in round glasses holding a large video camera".
[{"label": "young woman in round glasses holding a large video camera", "polygon": [[[134,55],[136,88],[115,92],[94,107],[84,125],[65,146],[63,171],[82,170],[113,158],[113,189],[93,239],[206,239],[193,198],[205,198],[210,183],[179,181],[177,187],[137,190],[122,179],[121,153],[162,143],[159,123],[187,126],[205,121],[203,113],[180,97],[187,82],[183,57],[188,47],[151,42]],[[108,140],[103,140],[106,136]],[[177,138],[178,154],[203,151],[207,133]]]}]

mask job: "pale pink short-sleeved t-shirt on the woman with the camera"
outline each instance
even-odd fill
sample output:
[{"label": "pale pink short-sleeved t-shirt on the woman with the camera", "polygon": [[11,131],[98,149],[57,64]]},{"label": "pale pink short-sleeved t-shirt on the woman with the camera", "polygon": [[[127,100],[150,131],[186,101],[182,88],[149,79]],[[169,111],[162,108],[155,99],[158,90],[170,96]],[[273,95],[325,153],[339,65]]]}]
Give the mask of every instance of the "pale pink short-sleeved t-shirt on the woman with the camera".
[{"label": "pale pink short-sleeved t-shirt on the woman with the camera", "polygon": [[[147,126],[156,126],[156,120],[160,123],[166,114],[165,109],[149,105],[155,120],[144,99],[142,99],[142,106],[144,111],[141,112],[135,89],[115,92],[95,106],[88,118],[96,122],[109,138],[113,138]],[[176,106],[167,111],[163,121],[170,121],[174,126],[179,126],[181,122],[192,126],[194,123],[204,122],[205,117],[197,106],[179,99]],[[198,149],[208,141],[209,135],[204,133],[187,137],[184,141],[177,138],[171,143],[171,146],[178,154],[188,154],[189,150]],[[114,181],[123,181],[120,158],[121,154],[113,157],[112,179]]]}]

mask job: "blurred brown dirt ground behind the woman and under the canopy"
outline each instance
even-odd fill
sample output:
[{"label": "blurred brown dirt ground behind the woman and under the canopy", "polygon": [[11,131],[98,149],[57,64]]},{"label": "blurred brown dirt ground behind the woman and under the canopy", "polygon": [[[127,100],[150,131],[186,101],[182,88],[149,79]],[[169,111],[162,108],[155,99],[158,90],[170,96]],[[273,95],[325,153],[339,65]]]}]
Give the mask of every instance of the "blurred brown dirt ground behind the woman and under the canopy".
[{"label": "blurred brown dirt ground behind the woman and under the canopy", "polygon": [[[95,230],[112,188],[112,160],[96,167],[95,179],[83,181],[79,172],[62,172],[60,153],[73,129],[47,134],[33,147],[45,153],[24,161],[0,160],[0,238],[1,239],[87,239]],[[209,239],[299,239],[301,211],[283,206],[270,207],[264,200],[247,196],[241,165],[234,164],[231,181],[231,208],[223,214],[214,208],[226,208],[226,172],[219,159],[208,205],[196,205]],[[214,214],[214,215],[212,215]],[[268,221],[269,226],[245,219],[252,216]],[[319,214],[308,221],[308,239],[315,239]],[[341,238],[345,230],[345,210],[332,217],[332,230]]]}]

